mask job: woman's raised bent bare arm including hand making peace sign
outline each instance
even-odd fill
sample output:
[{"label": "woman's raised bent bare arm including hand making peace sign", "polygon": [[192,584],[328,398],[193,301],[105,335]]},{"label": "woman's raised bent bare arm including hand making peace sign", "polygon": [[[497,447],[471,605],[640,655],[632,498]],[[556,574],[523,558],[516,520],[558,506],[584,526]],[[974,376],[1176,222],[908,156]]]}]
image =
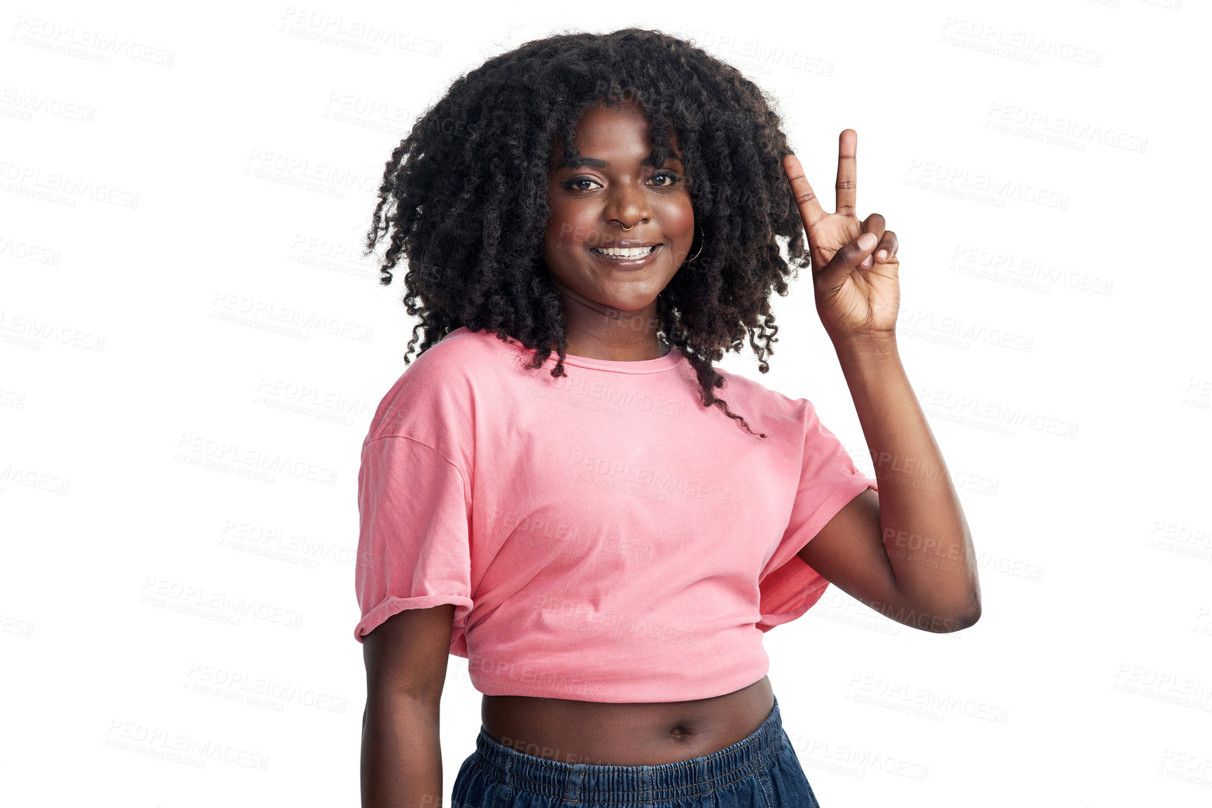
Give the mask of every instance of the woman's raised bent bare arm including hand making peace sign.
[{"label": "woman's raised bent bare arm including hand making peace sign", "polygon": [[897,350],[897,236],[854,216],[858,134],[839,138],[836,212],[825,213],[799,160],[784,170],[808,234],[817,311],[833,340],[875,466],[870,488],[797,554],[886,617],[957,631],[981,617],[976,550],[942,452]]}]

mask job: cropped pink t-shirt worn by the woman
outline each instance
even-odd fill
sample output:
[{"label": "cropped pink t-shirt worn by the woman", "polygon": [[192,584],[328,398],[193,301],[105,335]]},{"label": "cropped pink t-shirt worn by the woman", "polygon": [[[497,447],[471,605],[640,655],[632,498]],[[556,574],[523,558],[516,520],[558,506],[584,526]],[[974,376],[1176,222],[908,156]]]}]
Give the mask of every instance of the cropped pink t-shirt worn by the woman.
[{"label": "cropped pink t-shirt worn by the woman", "polygon": [[[358,477],[355,638],[454,604],[476,690],[685,701],[770,669],[762,634],[828,581],[796,556],[876,482],[806,399],[742,376],[716,406],[678,349],[638,362],[533,355],[451,332],[379,403]],[[877,489],[877,488],[876,488]]]}]

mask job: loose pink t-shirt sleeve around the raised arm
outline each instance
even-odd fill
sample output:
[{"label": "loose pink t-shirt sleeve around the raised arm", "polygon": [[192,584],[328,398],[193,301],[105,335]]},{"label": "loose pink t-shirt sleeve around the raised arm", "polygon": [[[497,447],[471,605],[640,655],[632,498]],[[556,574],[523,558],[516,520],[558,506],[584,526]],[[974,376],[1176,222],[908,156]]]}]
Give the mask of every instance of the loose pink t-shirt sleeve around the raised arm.
[{"label": "loose pink t-shirt sleeve around the raised arm", "polygon": [[854,468],[841,441],[817,417],[805,400],[806,431],[800,483],[783,538],[759,578],[761,620],[770,631],[807,612],[824,595],[829,581],[799,557],[804,549],[854,497],[873,488],[875,480]]}]

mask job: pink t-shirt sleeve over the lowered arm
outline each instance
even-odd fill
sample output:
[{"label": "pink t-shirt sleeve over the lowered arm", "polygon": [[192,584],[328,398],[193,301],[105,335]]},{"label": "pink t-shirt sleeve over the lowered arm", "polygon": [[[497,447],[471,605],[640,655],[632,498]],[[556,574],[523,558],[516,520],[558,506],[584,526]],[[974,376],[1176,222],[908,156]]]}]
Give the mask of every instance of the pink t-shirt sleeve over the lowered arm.
[{"label": "pink t-shirt sleeve over the lowered arm", "polygon": [[411,437],[370,440],[358,474],[358,510],[361,620],[354,638],[362,642],[405,609],[442,603],[453,603],[454,626],[464,625],[473,606],[470,489],[459,469]]}]

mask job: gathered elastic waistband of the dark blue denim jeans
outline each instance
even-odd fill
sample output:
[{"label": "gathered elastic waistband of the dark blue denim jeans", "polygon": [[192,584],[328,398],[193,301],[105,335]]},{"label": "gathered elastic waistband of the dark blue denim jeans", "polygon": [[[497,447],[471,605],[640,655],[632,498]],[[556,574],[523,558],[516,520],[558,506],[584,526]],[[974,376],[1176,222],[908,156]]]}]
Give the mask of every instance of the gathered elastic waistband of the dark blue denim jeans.
[{"label": "gathered elastic waistband of the dark blue denim jeans", "polygon": [[582,802],[642,802],[708,793],[743,780],[767,764],[783,739],[778,699],[748,738],[710,755],[659,766],[564,763],[526,755],[493,740],[480,727],[479,764],[505,785]]}]

